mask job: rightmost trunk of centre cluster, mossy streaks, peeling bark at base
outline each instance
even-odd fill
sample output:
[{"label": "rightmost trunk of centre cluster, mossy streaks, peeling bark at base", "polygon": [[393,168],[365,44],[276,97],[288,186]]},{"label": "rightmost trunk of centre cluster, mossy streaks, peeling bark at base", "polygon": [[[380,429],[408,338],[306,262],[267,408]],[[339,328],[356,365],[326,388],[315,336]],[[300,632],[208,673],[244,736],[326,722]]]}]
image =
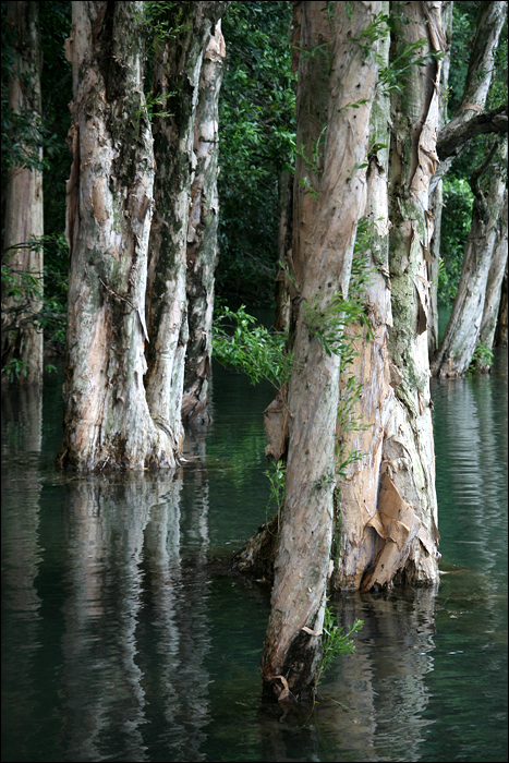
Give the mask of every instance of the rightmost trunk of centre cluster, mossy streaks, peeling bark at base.
[{"label": "rightmost trunk of centre cluster, mossy streaks, peeling bark at base", "polygon": [[[395,4],[398,25],[393,55],[426,37],[428,50],[443,50],[441,3]],[[401,14],[401,16],[400,16]],[[407,23],[405,23],[407,22]],[[427,22],[427,23],[426,23]],[[427,314],[428,246],[433,216],[429,181],[436,170],[440,63],[413,68],[401,94],[391,96],[389,155],[389,271],[392,326],[389,328],[390,384],[395,390],[385,424],[374,560],[361,588],[438,580],[437,502],[429,395]]]}]

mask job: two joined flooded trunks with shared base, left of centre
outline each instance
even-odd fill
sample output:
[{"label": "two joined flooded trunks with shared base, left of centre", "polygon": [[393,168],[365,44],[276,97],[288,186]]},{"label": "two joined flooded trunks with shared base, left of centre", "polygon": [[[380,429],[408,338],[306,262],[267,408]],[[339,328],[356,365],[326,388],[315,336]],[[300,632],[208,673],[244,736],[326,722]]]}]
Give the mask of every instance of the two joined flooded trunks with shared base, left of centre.
[{"label": "two joined flooded trunks with shared base, left of centre", "polygon": [[73,3],[61,468],[171,468],[181,452],[194,118],[204,47],[223,4],[163,9],[154,137],[145,10]]}]

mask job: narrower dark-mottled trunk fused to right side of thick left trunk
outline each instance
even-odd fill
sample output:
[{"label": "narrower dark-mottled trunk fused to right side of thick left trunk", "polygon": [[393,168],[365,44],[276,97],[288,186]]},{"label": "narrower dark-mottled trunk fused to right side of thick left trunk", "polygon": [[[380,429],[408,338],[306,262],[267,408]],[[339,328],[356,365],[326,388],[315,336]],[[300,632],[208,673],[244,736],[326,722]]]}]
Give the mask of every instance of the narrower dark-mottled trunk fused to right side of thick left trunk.
[{"label": "narrower dark-mottled trunk fused to right side of thick left trunk", "polygon": [[[186,240],[190,185],[196,157],[194,124],[199,72],[210,27],[222,2],[170,4],[163,19],[172,29],[156,44],[153,122],[156,179],[147,275],[145,387],[150,413],[181,452],[182,395],[189,338]],[[157,113],[161,116],[157,116]]]}]

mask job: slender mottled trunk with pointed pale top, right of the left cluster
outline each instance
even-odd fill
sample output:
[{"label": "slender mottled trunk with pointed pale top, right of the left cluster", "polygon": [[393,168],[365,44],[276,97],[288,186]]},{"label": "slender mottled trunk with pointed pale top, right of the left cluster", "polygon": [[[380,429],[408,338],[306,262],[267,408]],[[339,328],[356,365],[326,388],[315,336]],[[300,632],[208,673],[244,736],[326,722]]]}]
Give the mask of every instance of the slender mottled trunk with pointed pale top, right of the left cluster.
[{"label": "slender mottled trunk with pointed pale top, right of the left cluster", "polygon": [[185,423],[210,421],[206,410],[210,375],[214,275],[217,265],[218,227],[218,117],[225,40],[221,23],[216,23],[205,48],[199,80],[194,155],[196,168],[191,184],[187,227],[187,319],[189,342],[185,358],[182,419]]}]

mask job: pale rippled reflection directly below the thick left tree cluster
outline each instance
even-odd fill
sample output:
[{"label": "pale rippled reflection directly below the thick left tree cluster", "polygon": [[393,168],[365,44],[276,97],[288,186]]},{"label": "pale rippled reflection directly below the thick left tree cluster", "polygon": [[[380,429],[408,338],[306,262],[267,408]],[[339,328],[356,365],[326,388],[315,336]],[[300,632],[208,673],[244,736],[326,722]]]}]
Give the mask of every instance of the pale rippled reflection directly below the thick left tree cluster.
[{"label": "pale rippled reflection directly below the thick left tree cluster", "polygon": [[[204,474],[199,471],[198,481]],[[158,742],[162,756],[204,759],[208,675],[203,661],[209,649],[204,487],[184,517],[181,474],[66,484],[62,688],[70,760],[112,754],[146,760],[147,723],[165,729]],[[194,558],[196,535],[202,553],[194,566],[182,546],[192,546]]]}]

